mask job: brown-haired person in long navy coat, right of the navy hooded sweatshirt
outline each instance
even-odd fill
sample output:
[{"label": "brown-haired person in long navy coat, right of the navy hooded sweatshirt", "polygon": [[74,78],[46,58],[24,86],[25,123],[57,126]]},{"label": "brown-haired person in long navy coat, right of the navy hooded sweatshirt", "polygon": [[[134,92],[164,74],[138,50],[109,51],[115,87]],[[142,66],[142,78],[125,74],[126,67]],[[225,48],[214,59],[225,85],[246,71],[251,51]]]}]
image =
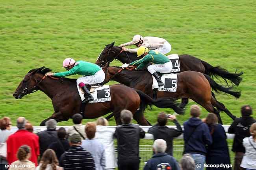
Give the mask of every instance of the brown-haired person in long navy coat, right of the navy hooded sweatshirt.
[{"label": "brown-haired person in long navy coat, right of the navy hooded sweatshirt", "polygon": [[[221,124],[218,124],[218,118],[215,114],[209,113],[205,120],[209,126],[212,137],[212,144],[208,145],[206,164],[207,165],[225,165],[218,170],[232,170],[228,152],[228,143],[226,141],[226,132]],[[216,167],[206,167],[206,170],[216,170]]]}]

